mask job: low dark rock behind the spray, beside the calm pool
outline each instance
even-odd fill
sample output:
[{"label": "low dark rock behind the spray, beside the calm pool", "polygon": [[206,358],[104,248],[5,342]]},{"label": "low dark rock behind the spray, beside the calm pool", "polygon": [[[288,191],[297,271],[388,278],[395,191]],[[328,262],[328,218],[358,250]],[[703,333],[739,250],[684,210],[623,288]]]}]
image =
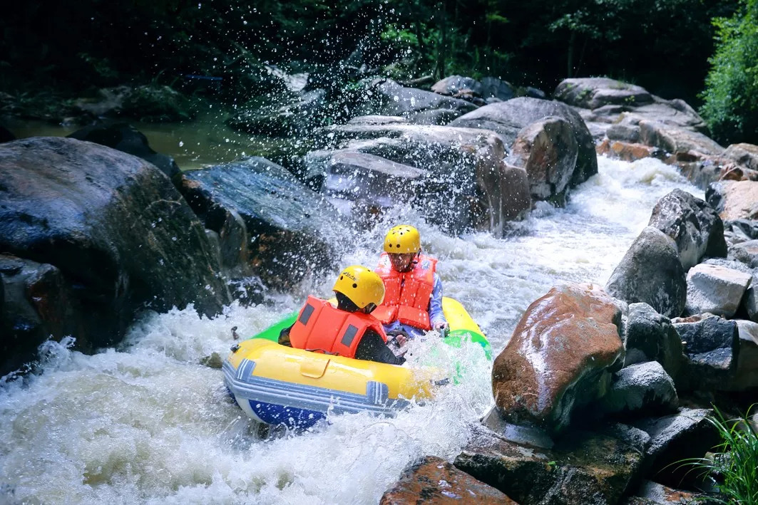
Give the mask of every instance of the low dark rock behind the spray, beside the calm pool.
[{"label": "low dark rock behind the spray, beside the calm pool", "polygon": [[253,100],[227,119],[227,126],[266,136],[307,136],[324,124],[326,92],[314,89],[294,96],[283,95],[269,103]]}]

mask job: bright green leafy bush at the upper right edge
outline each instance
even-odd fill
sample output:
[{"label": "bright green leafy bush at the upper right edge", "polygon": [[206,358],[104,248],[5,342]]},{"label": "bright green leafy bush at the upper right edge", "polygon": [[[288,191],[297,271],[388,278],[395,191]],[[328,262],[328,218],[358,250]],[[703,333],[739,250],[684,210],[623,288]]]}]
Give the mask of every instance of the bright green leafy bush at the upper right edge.
[{"label": "bright green leafy bush at the upper right edge", "polygon": [[716,54],[709,59],[700,113],[719,141],[758,143],[758,0],[713,24]]}]

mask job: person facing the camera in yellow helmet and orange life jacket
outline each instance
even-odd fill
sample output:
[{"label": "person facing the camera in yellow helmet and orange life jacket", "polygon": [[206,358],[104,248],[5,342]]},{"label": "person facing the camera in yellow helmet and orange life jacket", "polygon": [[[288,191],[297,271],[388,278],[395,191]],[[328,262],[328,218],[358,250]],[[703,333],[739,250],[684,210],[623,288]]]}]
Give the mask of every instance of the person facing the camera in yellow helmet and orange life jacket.
[{"label": "person facing the camera in yellow helmet and orange life jacket", "polygon": [[376,269],[384,282],[384,302],[374,311],[387,333],[415,337],[422,331],[448,328],[436,270],[437,260],[421,254],[418,229],[401,224],[387,232]]}]

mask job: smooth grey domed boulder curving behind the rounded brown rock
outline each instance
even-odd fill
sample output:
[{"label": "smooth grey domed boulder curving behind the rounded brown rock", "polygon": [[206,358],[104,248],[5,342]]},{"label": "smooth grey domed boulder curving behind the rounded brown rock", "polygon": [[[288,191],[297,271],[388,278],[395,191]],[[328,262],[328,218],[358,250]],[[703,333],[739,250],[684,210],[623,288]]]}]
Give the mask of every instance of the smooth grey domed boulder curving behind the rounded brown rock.
[{"label": "smooth grey domed boulder curving behind the rounded brown rock", "polygon": [[578,155],[571,185],[578,185],[594,176],[597,173],[594,139],[581,116],[568,105],[558,101],[513,98],[478,108],[454,120],[450,126],[491,129],[503,138],[506,146],[509,146],[515,142],[522,128],[548,116],[561,117],[568,121],[574,132]]}]

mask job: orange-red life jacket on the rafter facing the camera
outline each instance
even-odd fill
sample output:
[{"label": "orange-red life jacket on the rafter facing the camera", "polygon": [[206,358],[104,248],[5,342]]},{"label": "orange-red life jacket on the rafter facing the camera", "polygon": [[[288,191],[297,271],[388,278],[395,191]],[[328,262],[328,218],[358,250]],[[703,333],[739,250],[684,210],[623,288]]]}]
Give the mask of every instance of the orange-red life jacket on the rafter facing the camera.
[{"label": "orange-red life jacket on the rafter facing the camera", "polygon": [[419,255],[409,272],[393,269],[387,253],[382,253],[374,270],[384,281],[384,302],[371,314],[383,324],[399,321],[418,329],[431,329],[429,301],[434,290],[437,260]]}]

